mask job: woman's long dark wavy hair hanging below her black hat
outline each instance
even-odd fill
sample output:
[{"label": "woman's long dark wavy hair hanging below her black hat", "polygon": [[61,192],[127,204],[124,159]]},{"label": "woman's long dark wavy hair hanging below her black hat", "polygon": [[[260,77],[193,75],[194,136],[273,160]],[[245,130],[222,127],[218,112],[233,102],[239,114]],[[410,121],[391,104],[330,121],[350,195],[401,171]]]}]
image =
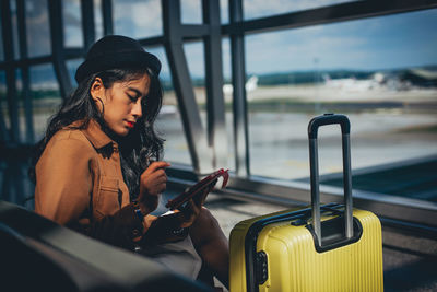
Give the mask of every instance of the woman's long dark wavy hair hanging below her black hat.
[{"label": "woman's long dark wavy hair hanging below her black hat", "polygon": [[[160,160],[163,152],[164,140],[154,129],[154,122],[163,103],[163,91],[160,79],[150,69],[111,69],[92,74],[78,84],[76,90],[63,101],[60,109],[49,120],[44,138],[36,144],[32,166],[31,179],[36,183],[35,166],[47,143],[54,135],[68,127],[69,129],[85,129],[90,120],[95,119],[109,137],[116,137],[106,127],[102,113],[98,110],[91,96],[91,86],[98,77],[106,89],[115,82],[134,80],[146,73],[151,79],[147,96],[142,100],[142,117],[138,119],[135,127],[122,138],[117,138],[120,148],[121,171],[125,183],[128,186],[131,199],[138,196],[140,189],[140,176],[149,166],[151,160]],[[81,121],[72,126],[74,121]]]}]

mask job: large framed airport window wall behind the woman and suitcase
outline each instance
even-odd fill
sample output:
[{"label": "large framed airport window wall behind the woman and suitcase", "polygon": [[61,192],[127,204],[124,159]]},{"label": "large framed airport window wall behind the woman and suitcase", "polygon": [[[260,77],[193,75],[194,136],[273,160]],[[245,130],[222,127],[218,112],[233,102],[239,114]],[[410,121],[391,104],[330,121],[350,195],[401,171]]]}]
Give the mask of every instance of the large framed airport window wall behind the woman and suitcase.
[{"label": "large framed airport window wall behind the woman and suitcase", "polygon": [[[358,205],[435,222],[437,1],[7,0],[0,10],[2,148],[27,153],[86,48],[122,34],[163,62],[157,127],[178,182],[225,167],[227,195],[308,201],[308,121],[339,113],[352,124]],[[321,130],[319,156],[322,199],[338,200],[336,128]],[[13,194],[33,192],[26,159],[2,159],[2,196],[21,202]]]}]

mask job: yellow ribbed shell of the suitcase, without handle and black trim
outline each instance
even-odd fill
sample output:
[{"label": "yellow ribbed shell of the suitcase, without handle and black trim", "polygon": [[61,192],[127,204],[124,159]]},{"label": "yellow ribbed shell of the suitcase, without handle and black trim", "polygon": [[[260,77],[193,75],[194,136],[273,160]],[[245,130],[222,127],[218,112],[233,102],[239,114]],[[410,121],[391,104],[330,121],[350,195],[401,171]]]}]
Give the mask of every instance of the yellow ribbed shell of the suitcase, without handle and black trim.
[{"label": "yellow ribbed shell of the suitcase, without handle and black trim", "polygon": [[[245,242],[249,227],[277,212],[238,223],[231,233],[231,292],[247,291]],[[268,257],[268,279],[259,291],[382,291],[382,240],[378,218],[354,209],[363,226],[358,242],[318,253],[309,230],[292,221],[264,226],[257,252]],[[322,221],[331,217],[321,218]]]}]

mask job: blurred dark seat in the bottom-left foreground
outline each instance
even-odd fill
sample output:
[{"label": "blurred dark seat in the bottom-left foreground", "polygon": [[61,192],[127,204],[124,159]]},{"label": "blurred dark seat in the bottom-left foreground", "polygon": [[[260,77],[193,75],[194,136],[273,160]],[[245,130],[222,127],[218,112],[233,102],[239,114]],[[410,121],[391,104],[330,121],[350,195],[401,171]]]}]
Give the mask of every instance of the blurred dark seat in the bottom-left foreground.
[{"label": "blurred dark seat in the bottom-left foreground", "polygon": [[1,291],[211,291],[5,201],[0,243]]}]

